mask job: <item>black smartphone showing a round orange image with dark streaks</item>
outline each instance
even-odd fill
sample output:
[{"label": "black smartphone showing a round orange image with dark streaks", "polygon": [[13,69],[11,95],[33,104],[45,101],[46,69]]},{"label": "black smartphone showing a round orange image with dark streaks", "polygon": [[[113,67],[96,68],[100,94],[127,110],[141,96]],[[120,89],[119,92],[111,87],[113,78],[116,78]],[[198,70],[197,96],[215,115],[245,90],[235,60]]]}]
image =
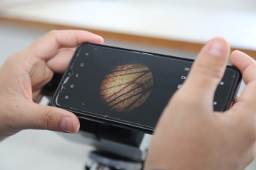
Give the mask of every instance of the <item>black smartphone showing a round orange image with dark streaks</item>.
[{"label": "black smartphone showing a round orange image with dark streaks", "polygon": [[[152,52],[80,44],[52,104],[79,118],[151,134],[171,96],[182,88],[193,62]],[[227,66],[214,95],[215,111],[229,109],[240,81],[238,69]]]}]

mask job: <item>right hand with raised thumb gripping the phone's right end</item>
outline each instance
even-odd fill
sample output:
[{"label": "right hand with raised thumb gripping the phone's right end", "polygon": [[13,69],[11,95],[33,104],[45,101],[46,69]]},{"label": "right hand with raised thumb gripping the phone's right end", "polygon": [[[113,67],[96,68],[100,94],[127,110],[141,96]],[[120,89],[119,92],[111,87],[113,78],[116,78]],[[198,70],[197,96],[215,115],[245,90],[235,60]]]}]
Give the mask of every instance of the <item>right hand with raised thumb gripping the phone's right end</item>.
[{"label": "right hand with raised thumb gripping the phone's right end", "polygon": [[157,124],[146,170],[245,169],[255,158],[256,62],[243,52],[232,52],[230,61],[242,72],[246,87],[231,109],[213,111],[229,52],[223,38],[203,47]]}]

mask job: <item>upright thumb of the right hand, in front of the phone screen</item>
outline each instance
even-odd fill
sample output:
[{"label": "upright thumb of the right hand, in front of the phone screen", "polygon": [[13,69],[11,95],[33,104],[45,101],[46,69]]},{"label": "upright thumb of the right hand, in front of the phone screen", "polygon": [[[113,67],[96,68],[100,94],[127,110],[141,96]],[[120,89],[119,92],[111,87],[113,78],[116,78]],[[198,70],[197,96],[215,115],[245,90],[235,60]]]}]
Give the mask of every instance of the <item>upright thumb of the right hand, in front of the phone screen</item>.
[{"label": "upright thumb of the right hand, in front of the phone screen", "polygon": [[208,106],[211,106],[214,92],[225,72],[229,52],[229,43],[224,38],[211,39],[194,61],[184,89],[188,89],[191,96],[208,102]]}]

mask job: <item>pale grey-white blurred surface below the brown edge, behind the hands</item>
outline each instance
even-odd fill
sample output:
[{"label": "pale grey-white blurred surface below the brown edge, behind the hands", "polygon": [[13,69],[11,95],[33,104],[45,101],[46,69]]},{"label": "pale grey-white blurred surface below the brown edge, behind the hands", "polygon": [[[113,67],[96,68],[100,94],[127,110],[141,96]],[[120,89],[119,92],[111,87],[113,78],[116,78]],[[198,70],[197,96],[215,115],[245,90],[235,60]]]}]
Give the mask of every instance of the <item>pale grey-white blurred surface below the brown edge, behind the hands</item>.
[{"label": "pale grey-white blurred surface below the brown edge, behind the hands", "polygon": [[[27,29],[0,22],[0,64],[14,52],[22,50],[30,43],[44,35],[44,30]],[[163,48],[145,47],[105,40],[106,44],[122,45],[137,50],[149,50],[188,57],[189,52],[166,50]],[[190,55],[194,58],[194,54]],[[243,89],[242,88],[240,90]],[[72,137],[71,137],[72,138]],[[82,143],[82,140],[80,141]],[[8,137],[0,143],[1,170],[82,170],[88,163],[87,154],[90,146],[66,140],[60,133],[42,130],[25,130]],[[221,155],[220,155],[221,156]],[[246,170],[255,170],[256,162]]]}]

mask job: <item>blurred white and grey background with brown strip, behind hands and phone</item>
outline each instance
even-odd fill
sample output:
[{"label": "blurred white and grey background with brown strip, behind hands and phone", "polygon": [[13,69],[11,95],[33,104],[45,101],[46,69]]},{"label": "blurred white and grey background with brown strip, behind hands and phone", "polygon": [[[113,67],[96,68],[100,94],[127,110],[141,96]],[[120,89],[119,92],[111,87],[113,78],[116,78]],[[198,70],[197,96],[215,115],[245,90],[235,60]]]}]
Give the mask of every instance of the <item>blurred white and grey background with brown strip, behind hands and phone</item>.
[{"label": "blurred white and grey background with brown strip, behind hands and phone", "polygon": [[[89,30],[108,45],[185,58],[223,36],[232,50],[256,58],[255,0],[0,0],[0,64],[54,29]],[[0,169],[85,169],[93,147],[80,134],[68,137],[79,142],[40,130],[8,137],[0,143]]]}]

